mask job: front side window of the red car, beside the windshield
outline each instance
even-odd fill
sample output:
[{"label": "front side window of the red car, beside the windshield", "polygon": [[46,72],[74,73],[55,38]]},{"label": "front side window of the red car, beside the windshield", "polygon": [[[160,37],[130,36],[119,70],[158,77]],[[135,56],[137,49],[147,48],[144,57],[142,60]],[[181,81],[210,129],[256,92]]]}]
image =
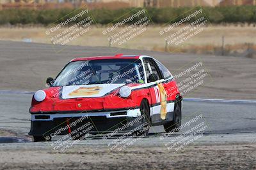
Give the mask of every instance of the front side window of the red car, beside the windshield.
[{"label": "front side window of the red car, beside the windshield", "polygon": [[159,76],[159,73],[157,72],[157,68],[156,68],[155,64],[151,60],[148,60],[148,59],[144,59],[143,61],[144,61],[144,65],[145,65],[148,83],[159,80],[160,76]]}]

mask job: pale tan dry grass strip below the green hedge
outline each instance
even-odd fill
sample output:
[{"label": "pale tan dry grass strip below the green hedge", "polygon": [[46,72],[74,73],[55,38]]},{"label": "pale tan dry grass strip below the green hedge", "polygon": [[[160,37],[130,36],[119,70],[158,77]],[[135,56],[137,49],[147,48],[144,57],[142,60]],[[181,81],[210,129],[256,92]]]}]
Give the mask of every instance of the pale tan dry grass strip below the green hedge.
[{"label": "pale tan dry grass strip below the green hedge", "polygon": [[[106,27],[91,27],[85,35],[76,38],[68,45],[81,46],[108,46],[108,37],[102,34]],[[253,26],[209,26],[204,27],[204,31],[196,34],[193,38],[178,46],[167,46],[159,35],[163,27],[147,27],[147,31],[131,39],[125,45],[116,47],[155,50],[168,52],[188,52],[188,53],[215,53],[221,50],[222,36],[225,36],[225,51],[227,53],[241,53],[248,48],[256,49],[256,29]],[[121,29],[119,29],[121,30]],[[177,29],[176,29],[177,30]],[[174,29],[174,31],[176,31]],[[51,39],[45,35],[44,27],[14,27],[0,28],[2,34],[0,39],[22,41],[29,38],[37,43],[51,43]]]}]

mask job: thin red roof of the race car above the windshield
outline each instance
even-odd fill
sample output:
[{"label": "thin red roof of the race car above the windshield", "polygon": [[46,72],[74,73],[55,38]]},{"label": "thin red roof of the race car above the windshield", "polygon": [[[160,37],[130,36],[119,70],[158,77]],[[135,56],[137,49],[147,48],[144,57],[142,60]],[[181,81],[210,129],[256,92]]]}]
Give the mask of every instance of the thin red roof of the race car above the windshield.
[{"label": "thin red roof of the race car above the windshield", "polygon": [[109,56],[96,56],[96,57],[81,57],[72,59],[71,61],[78,61],[78,60],[103,60],[103,59],[140,59],[144,55],[124,55],[123,53],[118,53],[116,55],[109,55]]}]

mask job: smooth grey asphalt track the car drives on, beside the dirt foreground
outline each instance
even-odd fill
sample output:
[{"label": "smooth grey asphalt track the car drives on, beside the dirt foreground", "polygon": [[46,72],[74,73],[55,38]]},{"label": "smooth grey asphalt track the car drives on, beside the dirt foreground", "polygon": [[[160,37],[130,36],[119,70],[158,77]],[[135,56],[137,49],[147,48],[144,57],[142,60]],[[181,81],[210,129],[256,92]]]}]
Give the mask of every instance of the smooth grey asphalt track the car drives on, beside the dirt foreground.
[{"label": "smooth grey asphalt track the car drives on, beside the dirt foreground", "polygon": [[[0,129],[16,134],[17,138],[1,138],[0,143],[28,142],[30,114],[28,112],[33,92],[0,91]],[[184,99],[182,124],[196,115],[201,115],[207,124],[205,135],[232,134],[236,141],[237,134],[256,134],[256,101],[234,101],[216,99]],[[177,134],[186,132],[182,129]],[[151,127],[148,138],[157,140],[164,134],[163,126]],[[176,134],[176,135],[177,135]],[[241,137],[241,136],[240,136]],[[239,141],[240,137],[237,137]],[[97,138],[97,136],[93,137]],[[97,138],[102,141],[102,138]],[[243,139],[242,139],[243,141]],[[93,140],[95,143],[95,140]],[[97,143],[97,142],[96,142]]]}]

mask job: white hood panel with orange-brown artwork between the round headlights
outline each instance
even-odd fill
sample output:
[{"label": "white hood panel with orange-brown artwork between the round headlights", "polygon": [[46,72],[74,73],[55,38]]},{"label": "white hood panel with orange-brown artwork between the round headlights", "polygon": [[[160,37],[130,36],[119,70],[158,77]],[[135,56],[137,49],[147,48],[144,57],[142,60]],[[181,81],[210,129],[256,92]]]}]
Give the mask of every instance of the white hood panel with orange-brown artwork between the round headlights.
[{"label": "white hood panel with orange-brown artwork between the round headlights", "polygon": [[122,87],[124,83],[116,84],[95,84],[95,85],[72,85],[62,88],[62,99],[72,99],[79,97],[102,97],[113,90]]}]

